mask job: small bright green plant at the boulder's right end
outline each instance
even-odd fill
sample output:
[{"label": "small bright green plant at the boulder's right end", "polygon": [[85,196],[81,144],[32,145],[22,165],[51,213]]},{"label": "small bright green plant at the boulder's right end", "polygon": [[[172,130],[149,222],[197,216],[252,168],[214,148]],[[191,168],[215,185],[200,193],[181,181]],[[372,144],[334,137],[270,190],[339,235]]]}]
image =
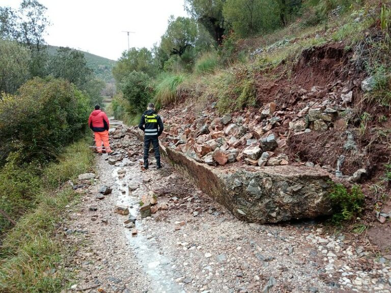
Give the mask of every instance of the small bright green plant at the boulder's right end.
[{"label": "small bright green plant at the boulder's right end", "polygon": [[334,184],[328,196],[333,211],[332,221],[336,224],[349,221],[362,211],[365,196],[358,185],[348,191],[342,184]]}]

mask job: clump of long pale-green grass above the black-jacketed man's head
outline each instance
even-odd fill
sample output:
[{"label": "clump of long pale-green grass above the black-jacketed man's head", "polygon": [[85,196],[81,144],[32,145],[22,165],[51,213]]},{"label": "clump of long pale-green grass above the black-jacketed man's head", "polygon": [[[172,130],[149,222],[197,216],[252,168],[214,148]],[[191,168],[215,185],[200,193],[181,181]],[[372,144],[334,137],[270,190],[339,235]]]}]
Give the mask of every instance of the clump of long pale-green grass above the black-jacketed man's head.
[{"label": "clump of long pale-green grass above the black-jacketed man's head", "polygon": [[163,105],[175,103],[179,98],[179,85],[186,78],[186,74],[166,74],[163,75],[155,87],[155,104],[157,108]]}]

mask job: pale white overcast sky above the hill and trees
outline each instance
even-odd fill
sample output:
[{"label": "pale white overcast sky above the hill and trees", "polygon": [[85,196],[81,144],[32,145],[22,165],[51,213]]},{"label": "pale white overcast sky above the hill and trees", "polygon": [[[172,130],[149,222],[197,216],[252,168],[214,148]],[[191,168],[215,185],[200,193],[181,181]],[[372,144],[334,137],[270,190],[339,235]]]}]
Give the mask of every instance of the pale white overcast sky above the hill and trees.
[{"label": "pale white overcast sky above the hill and trees", "polygon": [[[130,47],[151,48],[160,41],[170,15],[186,16],[184,0],[39,0],[52,23],[45,41],[117,60]],[[17,8],[19,0],[0,0]]]}]

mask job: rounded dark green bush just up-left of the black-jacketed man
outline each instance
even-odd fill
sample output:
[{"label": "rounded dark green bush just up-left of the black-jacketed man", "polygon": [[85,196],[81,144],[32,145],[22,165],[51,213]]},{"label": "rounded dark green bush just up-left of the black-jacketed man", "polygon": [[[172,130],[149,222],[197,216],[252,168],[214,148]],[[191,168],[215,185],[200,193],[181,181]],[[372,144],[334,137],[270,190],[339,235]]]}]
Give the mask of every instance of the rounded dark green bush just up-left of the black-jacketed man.
[{"label": "rounded dark green bush just up-left of the black-jacketed man", "polygon": [[143,112],[152,98],[150,77],[144,72],[133,71],[123,78],[120,89],[129,102],[131,114]]}]

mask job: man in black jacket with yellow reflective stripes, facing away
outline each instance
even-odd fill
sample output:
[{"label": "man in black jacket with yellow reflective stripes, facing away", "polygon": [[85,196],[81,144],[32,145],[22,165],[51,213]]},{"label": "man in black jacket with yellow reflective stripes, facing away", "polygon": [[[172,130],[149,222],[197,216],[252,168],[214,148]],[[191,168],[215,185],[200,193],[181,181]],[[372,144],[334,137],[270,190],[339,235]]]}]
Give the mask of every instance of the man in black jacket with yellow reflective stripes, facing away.
[{"label": "man in black jacket with yellow reflective stripes, facing away", "polygon": [[156,168],[160,169],[161,164],[158,137],[163,132],[164,127],[160,116],[155,112],[154,104],[148,104],[147,111],[145,111],[141,116],[138,128],[144,131],[144,168],[148,169],[149,146],[152,142],[156,158]]}]

